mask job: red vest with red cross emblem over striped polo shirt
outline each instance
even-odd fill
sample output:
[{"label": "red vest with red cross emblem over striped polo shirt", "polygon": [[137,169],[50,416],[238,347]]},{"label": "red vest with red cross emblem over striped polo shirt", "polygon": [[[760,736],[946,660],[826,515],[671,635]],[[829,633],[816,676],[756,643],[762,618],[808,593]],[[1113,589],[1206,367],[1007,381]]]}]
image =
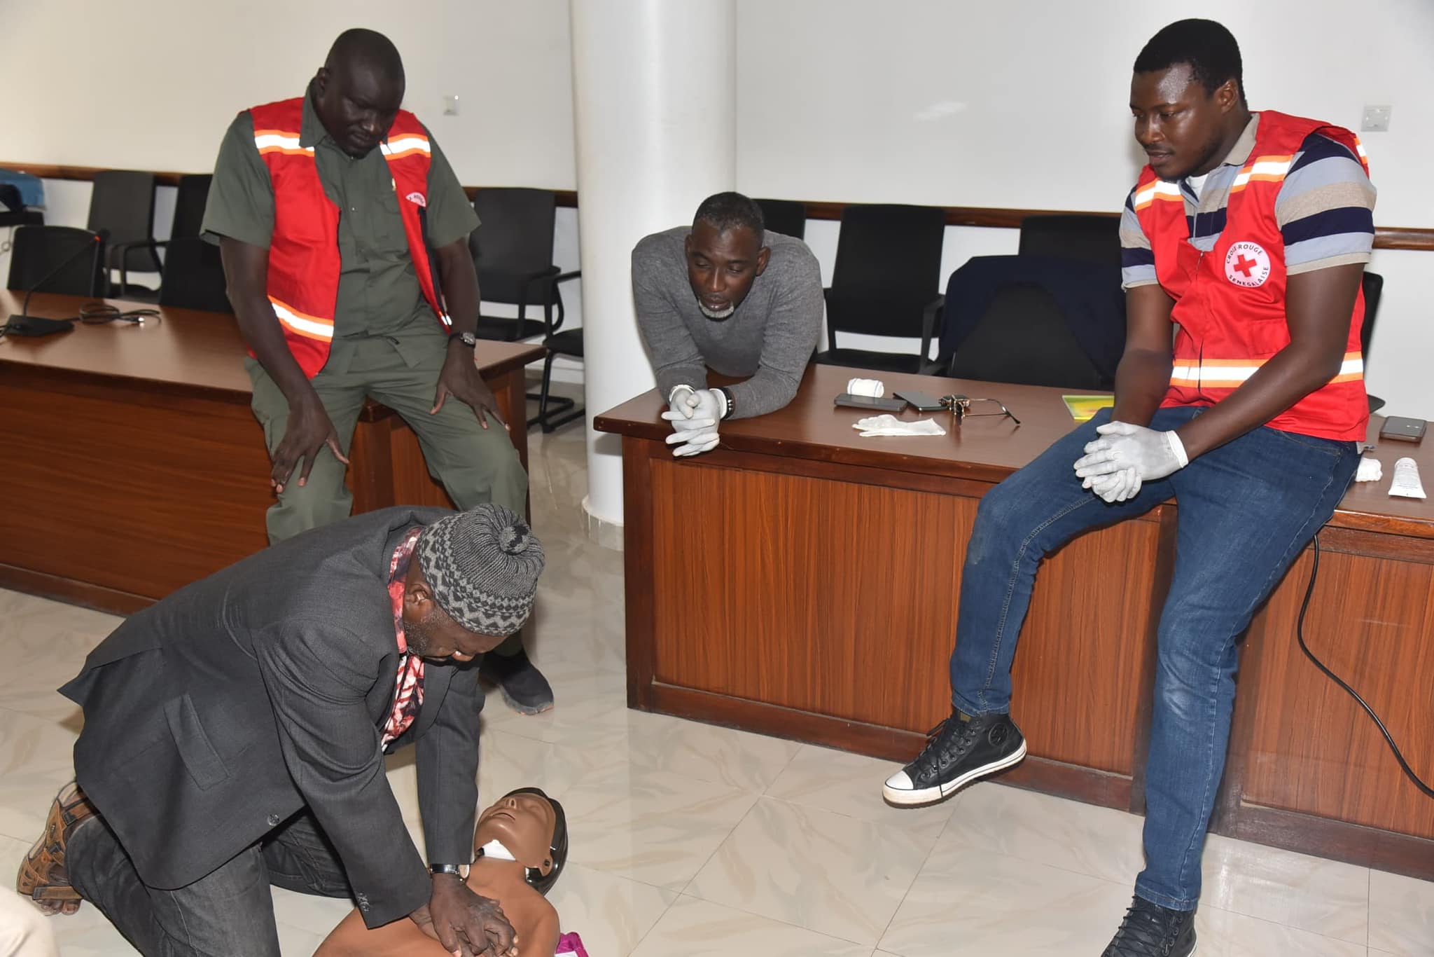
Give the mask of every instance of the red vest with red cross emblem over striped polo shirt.
[{"label": "red vest with red cross emblem over striped polo shirt", "polygon": [[[1170,390],[1162,406],[1213,405],[1289,344],[1285,240],[1275,199],[1301,143],[1315,132],[1348,146],[1369,175],[1364,146],[1348,129],[1262,110],[1255,148],[1230,185],[1225,228],[1209,253],[1189,242],[1180,185],[1160,179],[1150,166],[1140,172],[1136,215],[1154,253],[1156,277],[1174,298],[1170,320],[1179,326]],[[1266,425],[1326,439],[1365,439],[1369,403],[1359,350],[1362,323],[1361,291],[1339,372]]]}]

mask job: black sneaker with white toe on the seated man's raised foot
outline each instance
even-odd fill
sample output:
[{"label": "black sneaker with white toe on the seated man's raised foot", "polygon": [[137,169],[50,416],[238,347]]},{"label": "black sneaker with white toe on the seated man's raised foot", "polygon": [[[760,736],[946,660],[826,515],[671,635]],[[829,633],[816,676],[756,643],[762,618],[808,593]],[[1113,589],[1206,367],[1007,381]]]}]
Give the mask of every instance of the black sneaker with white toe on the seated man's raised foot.
[{"label": "black sneaker with white toe on the seated man's raised foot", "polygon": [[972,717],[952,707],[951,717],[926,732],[916,760],[886,779],[882,796],[903,806],[932,803],[1022,758],[1025,737],[1010,715]]}]

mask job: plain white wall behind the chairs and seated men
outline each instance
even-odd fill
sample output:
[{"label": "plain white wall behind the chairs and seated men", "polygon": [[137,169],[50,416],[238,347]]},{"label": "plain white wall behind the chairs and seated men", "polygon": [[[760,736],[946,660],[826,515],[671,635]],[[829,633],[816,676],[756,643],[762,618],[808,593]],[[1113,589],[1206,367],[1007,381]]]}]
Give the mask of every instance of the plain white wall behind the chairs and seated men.
[{"label": "plain white wall behind the chairs and seated men", "polygon": [[[1391,103],[1390,132],[1362,135],[1375,222],[1434,227],[1434,189],[1421,178],[1434,156],[1434,0],[1357,10],[1345,0],[739,0],[737,187],[793,199],[1116,209],[1140,162],[1130,65],[1182,16],[1235,30],[1256,109],[1358,128],[1365,103]],[[348,26],[399,44],[406,105],[465,184],[574,187],[565,0],[0,0],[0,85],[23,90],[7,103],[0,158],[208,169],[232,113],[300,92]],[[69,69],[54,69],[57,53]],[[701,69],[701,37],[691,69]],[[455,92],[462,112],[443,116],[442,96]],[[49,188],[50,221],[82,224],[87,187]],[[835,235],[835,224],[809,224],[826,275]],[[559,214],[556,245],[559,265],[575,265],[571,211]],[[942,278],[968,255],[1014,248],[1012,231],[951,228]],[[1434,254],[1377,251],[1371,268],[1385,293],[1369,390],[1391,412],[1434,419]]]}]

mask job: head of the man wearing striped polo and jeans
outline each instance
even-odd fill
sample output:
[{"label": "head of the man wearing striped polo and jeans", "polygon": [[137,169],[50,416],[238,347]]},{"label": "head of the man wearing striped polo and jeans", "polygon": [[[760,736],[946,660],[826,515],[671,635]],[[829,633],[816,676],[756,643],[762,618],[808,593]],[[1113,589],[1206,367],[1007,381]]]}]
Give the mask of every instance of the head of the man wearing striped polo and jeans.
[{"label": "head of the man wearing striped polo and jeans", "polygon": [[1180,20],[1156,33],[1136,57],[1130,112],[1157,176],[1215,169],[1250,116],[1230,32],[1213,20]]}]

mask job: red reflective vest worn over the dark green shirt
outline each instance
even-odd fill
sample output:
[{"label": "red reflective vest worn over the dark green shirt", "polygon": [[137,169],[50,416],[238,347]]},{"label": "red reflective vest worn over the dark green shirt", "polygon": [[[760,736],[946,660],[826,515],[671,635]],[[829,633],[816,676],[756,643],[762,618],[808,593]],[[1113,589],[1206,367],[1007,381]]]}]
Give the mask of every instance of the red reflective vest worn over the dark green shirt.
[{"label": "red reflective vest worn over the dark green shirt", "polygon": [[[313,379],[328,362],[334,339],[334,306],[338,300],[338,207],[324,194],[314,164],[314,148],[300,146],[304,98],[265,103],[250,110],[254,146],[274,184],[274,235],[270,238],[268,298],[298,367]],[[389,135],[379,143],[399,215],[409,238],[409,254],[423,298],[445,329],[452,326],[443,296],[433,284],[433,268],[423,238],[420,209],[427,205],[429,135],[417,118],[399,110]],[[252,354],[252,353],[251,353]]]}]

